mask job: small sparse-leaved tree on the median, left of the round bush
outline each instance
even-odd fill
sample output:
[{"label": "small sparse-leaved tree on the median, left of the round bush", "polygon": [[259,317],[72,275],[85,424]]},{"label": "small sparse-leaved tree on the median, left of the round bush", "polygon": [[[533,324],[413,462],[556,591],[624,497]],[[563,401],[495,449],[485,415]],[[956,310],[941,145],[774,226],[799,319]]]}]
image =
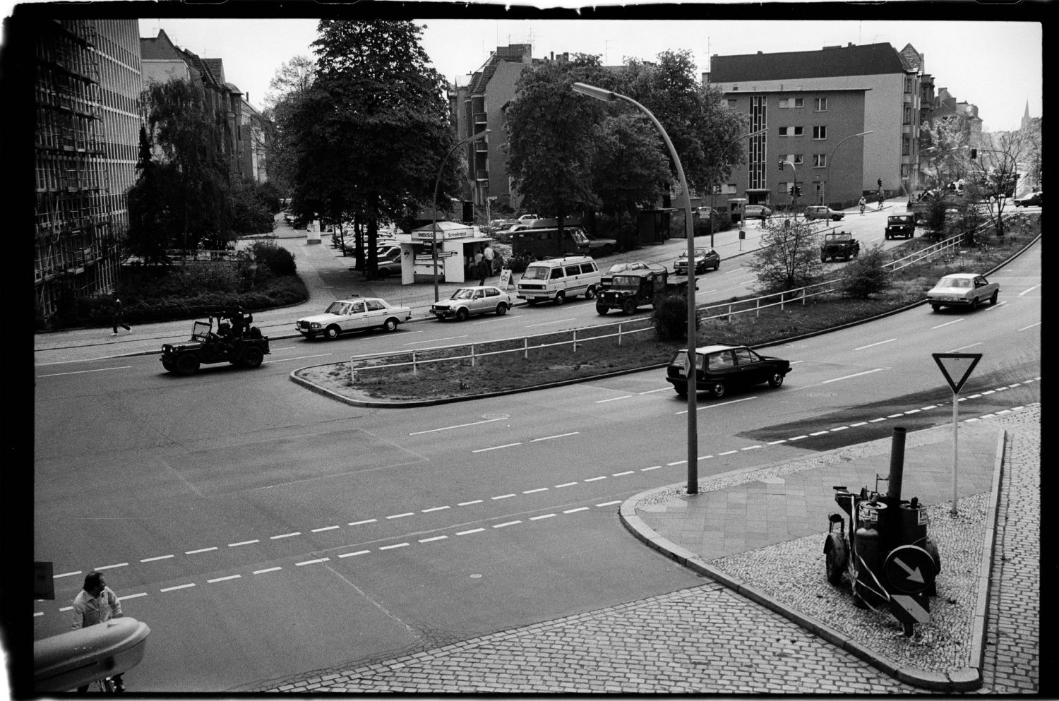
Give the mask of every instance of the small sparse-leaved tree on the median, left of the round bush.
[{"label": "small sparse-leaved tree on the median, left of the round bush", "polygon": [[823,269],[820,234],[804,220],[791,221],[790,226],[769,222],[761,230],[761,248],[748,267],[757,274],[762,293],[811,285]]}]

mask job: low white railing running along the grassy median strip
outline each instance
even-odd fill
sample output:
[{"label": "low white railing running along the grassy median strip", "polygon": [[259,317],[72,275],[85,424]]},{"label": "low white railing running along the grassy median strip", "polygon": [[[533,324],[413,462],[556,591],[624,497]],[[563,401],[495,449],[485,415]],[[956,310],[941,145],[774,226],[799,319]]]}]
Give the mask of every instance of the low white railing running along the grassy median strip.
[{"label": "low white railing running along the grassy median strip", "polygon": [[[983,224],[985,226],[985,224]],[[964,239],[964,234],[957,234],[951,238],[947,238],[943,241],[929,246],[925,249],[916,251],[911,255],[907,255],[902,258],[892,260],[885,264],[883,267],[890,268],[891,271],[900,270],[910,265],[918,263],[925,258],[937,255],[944,251],[950,251],[959,246]],[[785,290],[783,292],[773,292],[771,294],[764,294],[760,296],[755,296],[747,300],[735,300],[732,302],[726,302],[722,304],[711,304],[696,309],[696,317],[698,321],[710,321],[714,319],[731,319],[734,316],[741,313],[753,312],[755,317],[760,314],[761,309],[768,309],[769,307],[778,306],[780,309],[785,305],[798,304],[803,306],[806,304],[806,300],[821,296],[824,294],[832,294],[839,290],[839,287],[844,277],[837,277],[824,283],[814,283],[812,285],[807,285],[805,287],[798,287],[792,290]],[[629,328],[632,326],[633,328]],[[615,328],[616,327],[616,328]],[[610,329],[614,329],[611,331]],[[552,331],[550,334],[537,334],[533,336],[523,336],[516,339],[502,339],[500,341],[485,341],[482,343],[471,343],[469,344],[469,352],[464,354],[456,354],[450,352],[457,352],[462,348],[468,348],[468,344],[462,343],[456,345],[444,345],[435,346],[432,348],[421,348],[419,350],[407,350],[400,354],[394,353],[375,353],[361,356],[353,356],[349,358],[349,377],[352,382],[357,381],[357,373],[369,371],[369,370],[383,370],[389,367],[411,367],[413,373],[417,373],[420,365],[436,363],[436,362],[451,362],[451,361],[463,361],[470,360],[471,366],[478,362],[479,359],[510,354],[510,353],[521,353],[524,358],[530,357],[531,350],[539,350],[542,348],[570,345],[572,352],[576,353],[578,345],[584,345],[588,341],[598,341],[603,339],[616,338],[617,345],[622,345],[622,339],[625,336],[642,334],[647,330],[653,330],[654,324],[651,322],[650,318],[640,318],[632,319],[623,322],[609,323],[609,324],[597,324],[595,326],[586,326],[582,328],[575,328],[571,331]],[[599,332],[602,331],[602,332]],[[569,339],[561,337],[570,336]],[[578,336],[580,335],[580,336]],[[556,340],[550,340],[555,338]],[[506,346],[511,347],[499,347],[493,349],[493,346]],[[486,349],[483,349],[486,348]],[[389,360],[392,358],[401,358],[410,356],[409,360],[406,362],[395,362],[395,363],[377,363],[379,360]]]}]

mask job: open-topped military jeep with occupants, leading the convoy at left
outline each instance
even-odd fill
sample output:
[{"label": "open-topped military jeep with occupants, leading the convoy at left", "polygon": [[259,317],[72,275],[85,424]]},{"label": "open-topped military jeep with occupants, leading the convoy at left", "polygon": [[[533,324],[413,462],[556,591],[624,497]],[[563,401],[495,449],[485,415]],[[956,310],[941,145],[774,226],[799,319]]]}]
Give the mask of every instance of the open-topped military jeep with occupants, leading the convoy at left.
[{"label": "open-topped military jeep with occupants, leading the convoy at left", "polygon": [[[216,320],[216,330],[214,321]],[[251,326],[253,314],[220,311],[208,321],[196,321],[186,343],[163,343],[162,366],[177,375],[194,375],[199,365],[229,362],[257,367],[269,355],[268,337]]]}]

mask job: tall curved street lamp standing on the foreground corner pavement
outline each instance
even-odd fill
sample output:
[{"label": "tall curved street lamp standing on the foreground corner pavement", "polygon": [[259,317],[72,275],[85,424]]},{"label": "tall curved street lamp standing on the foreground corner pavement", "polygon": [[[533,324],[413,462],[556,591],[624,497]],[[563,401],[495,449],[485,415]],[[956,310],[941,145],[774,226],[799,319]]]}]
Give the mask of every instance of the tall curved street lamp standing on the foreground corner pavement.
[{"label": "tall curved street lamp standing on the foreground corner pavement", "polygon": [[627,97],[626,95],[618,94],[616,92],[611,92],[610,90],[604,90],[603,88],[596,88],[595,86],[586,85],[584,83],[575,83],[573,85],[574,92],[579,92],[582,95],[588,95],[590,97],[595,97],[596,100],[603,100],[605,102],[611,102],[615,100],[624,100],[627,103],[631,103],[636,109],[646,114],[654,126],[658,128],[659,132],[662,134],[662,140],[665,141],[666,148],[669,149],[669,156],[672,158],[674,164],[677,166],[677,177],[680,178],[680,186],[684,190],[684,233],[687,237],[687,363],[685,367],[687,369],[687,493],[696,495],[699,492],[699,425],[696,418],[696,372],[695,372],[695,266],[693,262],[695,260],[695,227],[692,221],[692,194],[687,190],[687,180],[684,178],[684,166],[680,164],[680,157],[677,156],[677,149],[672,147],[672,142],[669,141],[669,134],[665,132],[662,124],[651,114],[651,111],[638,103],[632,97]]}]

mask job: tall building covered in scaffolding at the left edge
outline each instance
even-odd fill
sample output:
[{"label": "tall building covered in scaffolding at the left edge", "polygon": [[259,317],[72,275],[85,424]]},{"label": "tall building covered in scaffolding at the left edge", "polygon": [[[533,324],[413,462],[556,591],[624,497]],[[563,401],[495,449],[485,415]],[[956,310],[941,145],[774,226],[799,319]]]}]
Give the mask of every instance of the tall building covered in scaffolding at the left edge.
[{"label": "tall building covered in scaffolding at the left edge", "polygon": [[120,272],[140,129],[139,30],[134,19],[39,14],[16,14],[8,30],[34,76],[34,292],[47,319],[64,301],[109,292]]}]

